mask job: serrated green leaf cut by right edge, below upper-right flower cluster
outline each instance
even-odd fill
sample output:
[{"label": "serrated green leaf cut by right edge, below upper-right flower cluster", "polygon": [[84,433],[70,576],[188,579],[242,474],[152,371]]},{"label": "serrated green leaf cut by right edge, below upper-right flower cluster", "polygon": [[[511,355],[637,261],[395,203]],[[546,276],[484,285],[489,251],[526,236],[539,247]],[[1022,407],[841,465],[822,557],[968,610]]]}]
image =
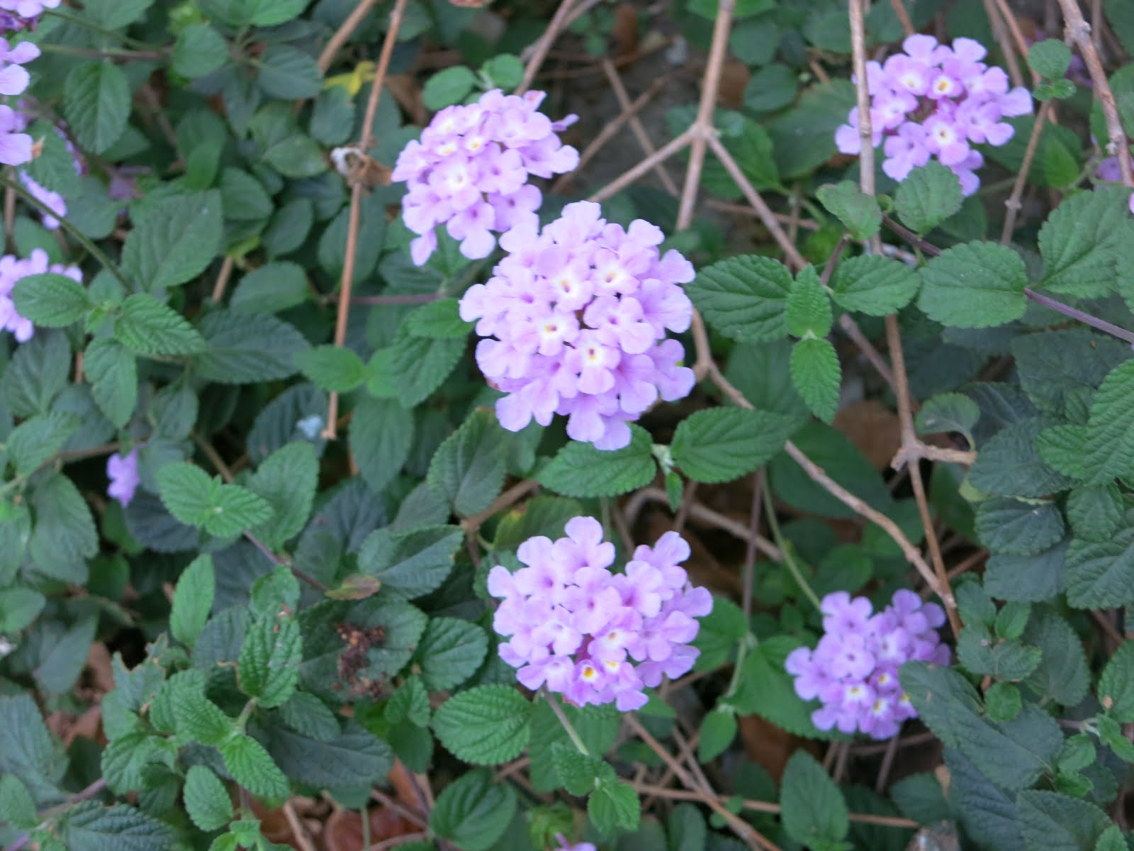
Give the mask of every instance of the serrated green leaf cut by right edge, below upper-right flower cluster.
[{"label": "serrated green leaf cut by right edge, below upper-right flower cluster", "polygon": [[1041,286],[1084,298],[1114,293],[1132,239],[1129,192],[1100,186],[1068,195],[1040,228]]}]

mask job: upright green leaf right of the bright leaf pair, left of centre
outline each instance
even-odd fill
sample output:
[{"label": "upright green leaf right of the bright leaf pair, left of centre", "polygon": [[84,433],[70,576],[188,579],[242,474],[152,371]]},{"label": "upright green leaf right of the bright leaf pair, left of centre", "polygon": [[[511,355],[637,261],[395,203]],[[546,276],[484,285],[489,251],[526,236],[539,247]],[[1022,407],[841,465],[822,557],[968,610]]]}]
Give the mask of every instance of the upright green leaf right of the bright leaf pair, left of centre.
[{"label": "upright green leaf right of the bright leaf pair, left of centre", "polygon": [[248,490],[272,509],[253,531],[269,547],[281,547],[303,531],[319,486],[319,460],[306,441],[293,441],[269,455],[248,480]]}]

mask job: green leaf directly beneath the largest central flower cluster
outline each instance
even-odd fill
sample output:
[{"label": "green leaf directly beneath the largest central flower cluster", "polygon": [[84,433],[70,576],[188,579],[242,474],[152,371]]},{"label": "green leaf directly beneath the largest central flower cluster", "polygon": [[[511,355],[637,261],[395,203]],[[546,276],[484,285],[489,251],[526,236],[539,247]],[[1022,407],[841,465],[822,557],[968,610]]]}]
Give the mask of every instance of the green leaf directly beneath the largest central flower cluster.
[{"label": "green leaf directly beneath the largest central flower cluster", "polygon": [[557,494],[574,497],[618,496],[650,483],[657,473],[650,433],[631,426],[631,444],[607,452],[591,444],[567,444],[536,479]]}]

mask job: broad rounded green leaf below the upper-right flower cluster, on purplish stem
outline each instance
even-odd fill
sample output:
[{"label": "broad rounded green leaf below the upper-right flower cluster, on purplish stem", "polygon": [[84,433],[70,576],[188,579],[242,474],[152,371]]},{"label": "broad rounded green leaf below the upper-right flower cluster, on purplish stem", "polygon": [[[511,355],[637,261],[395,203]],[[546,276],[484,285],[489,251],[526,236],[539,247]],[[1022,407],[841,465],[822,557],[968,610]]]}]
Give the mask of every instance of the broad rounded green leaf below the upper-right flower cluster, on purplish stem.
[{"label": "broad rounded green leaf below the upper-right flower cluster, on purplish stem", "polygon": [[1021,256],[1004,245],[955,245],[920,271],[917,306],[941,325],[988,328],[1024,315],[1027,270]]}]

